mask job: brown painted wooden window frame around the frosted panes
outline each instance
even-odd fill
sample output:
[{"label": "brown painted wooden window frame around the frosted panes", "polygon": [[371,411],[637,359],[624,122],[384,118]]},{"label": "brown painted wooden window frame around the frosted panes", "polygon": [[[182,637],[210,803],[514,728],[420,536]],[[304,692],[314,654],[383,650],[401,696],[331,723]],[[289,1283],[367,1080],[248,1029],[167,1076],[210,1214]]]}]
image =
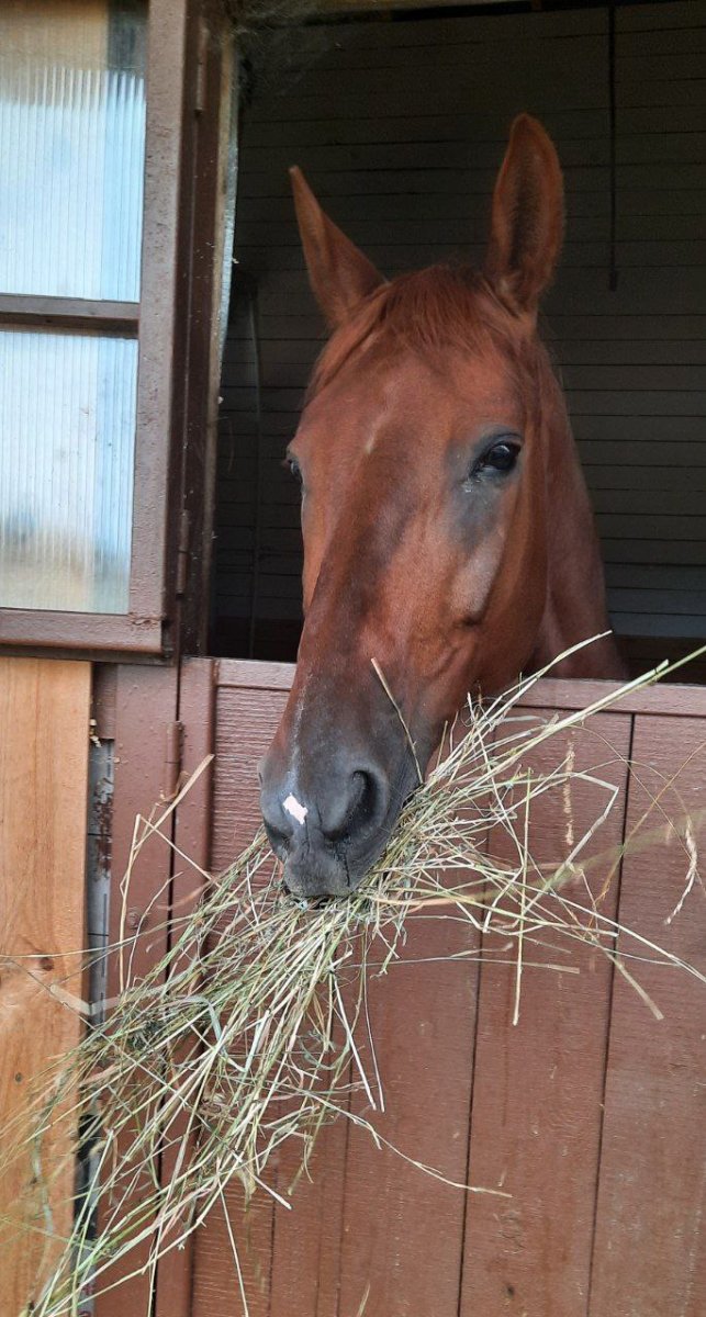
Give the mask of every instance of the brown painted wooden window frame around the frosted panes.
[{"label": "brown painted wooden window frame around the frosted panes", "polygon": [[[92,657],[115,652],[169,657],[175,645],[175,560],[180,508],[179,365],[188,296],[183,215],[188,211],[190,138],[199,42],[192,0],[149,0],[145,200],[140,302],[0,296],[0,328],[95,332],[137,338],[133,529],[124,614],[0,607],[0,652],[59,648]],[[191,103],[191,104],[190,104]],[[192,116],[194,117],[194,113]],[[186,188],[188,191],[188,188]],[[183,378],[183,371],[182,371]]]}]

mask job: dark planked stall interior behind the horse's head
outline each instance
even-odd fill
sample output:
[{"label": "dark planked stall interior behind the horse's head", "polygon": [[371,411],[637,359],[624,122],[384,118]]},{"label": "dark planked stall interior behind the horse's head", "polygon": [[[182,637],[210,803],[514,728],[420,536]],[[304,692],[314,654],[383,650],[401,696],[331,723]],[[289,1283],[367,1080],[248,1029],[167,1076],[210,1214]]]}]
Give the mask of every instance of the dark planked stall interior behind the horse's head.
[{"label": "dark planked stall interior behind the horse's head", "polygon": [[[702,0],[618,8],[611,290],[607,9],[396,16],[250,42],[236,255],[257,283],[262,643],[269,628],[296,631],[299,619],[298,491],[281,458],[323,332],[287,166],[304,169],[332,217],[387,274],[458,252],[477,261],[520,109],[544,121],[565,170],[568,238],[547,327],[595,504],[614,626],[627,636],[706,633],[705,49]],[[253,587],[252,309],[234,295],[221,389],[220,652],[244,652]]]}]

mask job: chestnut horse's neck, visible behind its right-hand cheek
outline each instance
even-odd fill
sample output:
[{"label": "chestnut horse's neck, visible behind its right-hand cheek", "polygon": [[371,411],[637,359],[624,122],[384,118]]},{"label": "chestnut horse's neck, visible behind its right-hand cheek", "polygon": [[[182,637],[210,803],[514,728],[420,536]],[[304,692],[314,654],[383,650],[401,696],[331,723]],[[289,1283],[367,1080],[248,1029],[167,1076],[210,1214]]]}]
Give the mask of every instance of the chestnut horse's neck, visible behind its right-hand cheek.
[{"label": "chestnut horse's neck, visible behind its right-hand cheek", "polygon": [[[532,657],[541,668],[572,645],[609,630],[601,545],[564,396],[545,383],[548,561],[547,607]],[[612,636],[562,658],[556,677],[622,677],[624,666]]]}]

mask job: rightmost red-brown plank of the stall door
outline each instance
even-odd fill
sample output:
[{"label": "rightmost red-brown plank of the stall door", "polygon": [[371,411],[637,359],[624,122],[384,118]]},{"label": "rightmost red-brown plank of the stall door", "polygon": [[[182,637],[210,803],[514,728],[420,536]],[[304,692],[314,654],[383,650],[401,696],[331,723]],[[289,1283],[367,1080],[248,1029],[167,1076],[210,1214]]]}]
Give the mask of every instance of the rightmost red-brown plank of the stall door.
[{"label": "rightmost red-brown plank of the stall door", "polygon": [[[706,842],[706,723],[639,715],[627,836],[657,827],[649,849],[623,861],[620,922],[706,972],[703,890],[685,889],[689,857],[666,820],[694,817]],[[697,815],[701,815],[698,818]],[[638,834],[639,835],[639,834]],[[635,952],[622,939],[622,951]],[[703,984],[649,959],[630,961],[664,1013],[652,1019],[616,976],[590,1317],[701,1317],[706,1310],[706,1064]]]}]

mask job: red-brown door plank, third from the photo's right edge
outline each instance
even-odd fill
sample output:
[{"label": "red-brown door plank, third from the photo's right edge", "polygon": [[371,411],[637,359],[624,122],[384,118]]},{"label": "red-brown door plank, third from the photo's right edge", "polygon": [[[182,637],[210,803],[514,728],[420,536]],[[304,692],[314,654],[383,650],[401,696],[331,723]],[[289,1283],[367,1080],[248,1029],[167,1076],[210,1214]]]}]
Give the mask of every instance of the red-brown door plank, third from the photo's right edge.
[{"label": "red-brown door plank, third from the photo's right edge", "polygon": [[[362,1097],[354,1109],[393,1147],[348,1133],[341,1313],[457,1317],[478,965],[447,957],[475,946],[470,925],[410,917],[402,963],[370,980],[386,1110],[373,1114]],[[371,1071],[370,1047],[360,1050]]]}]

